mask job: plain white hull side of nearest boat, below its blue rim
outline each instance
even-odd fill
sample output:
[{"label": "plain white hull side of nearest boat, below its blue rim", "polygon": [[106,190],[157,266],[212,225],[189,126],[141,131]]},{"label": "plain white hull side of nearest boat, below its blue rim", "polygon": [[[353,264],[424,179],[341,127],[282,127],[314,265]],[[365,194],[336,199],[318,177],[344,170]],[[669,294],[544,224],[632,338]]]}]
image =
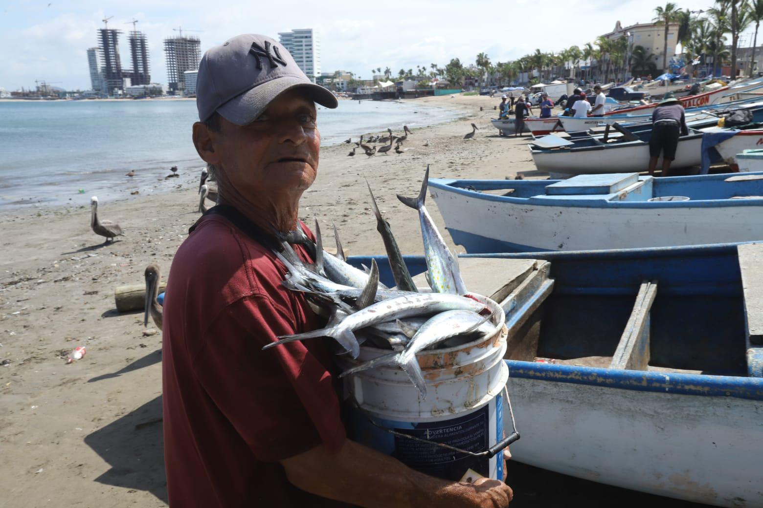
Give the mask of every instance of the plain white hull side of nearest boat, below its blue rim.
[{"label": "plain white hull side of nearest boat, below its blue rim", "polygon": [[507,388],[522,435],[513,460],[697,503],[763,506],[761,401],[511,374]]}]

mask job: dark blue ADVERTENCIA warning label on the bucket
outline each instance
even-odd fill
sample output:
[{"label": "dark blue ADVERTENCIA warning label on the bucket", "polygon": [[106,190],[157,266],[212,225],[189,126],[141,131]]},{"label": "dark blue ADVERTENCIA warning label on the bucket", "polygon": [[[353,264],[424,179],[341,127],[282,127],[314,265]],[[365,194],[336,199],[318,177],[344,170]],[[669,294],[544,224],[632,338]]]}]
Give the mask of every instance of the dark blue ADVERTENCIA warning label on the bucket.
[{"label": "dark blue ADVERTENCIA warning label on the bucket", "polygon": [[[488,449],[488,407],[452,420],[417,423],[413,429],[395,429],[399,433],[443,443],[468,452]],[[489,475],[488,458],[472,457],[452,449],[422,443],[402,436],[394,437],[394,457],[411,468],[437,478],[458,481],[468,468]]]}]

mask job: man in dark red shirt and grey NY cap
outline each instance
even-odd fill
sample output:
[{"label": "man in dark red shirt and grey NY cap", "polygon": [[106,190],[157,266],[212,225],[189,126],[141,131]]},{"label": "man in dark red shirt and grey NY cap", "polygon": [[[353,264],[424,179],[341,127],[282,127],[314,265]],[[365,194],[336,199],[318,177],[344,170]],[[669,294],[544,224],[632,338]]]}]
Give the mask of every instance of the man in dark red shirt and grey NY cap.
[{"label": "man in dark red shirt and grey NY cap", "polygon": [[275,40],[252,34],[204,54],[196,93],[194,144],[220,197],[169,274],[170,505],[507,506],[512,493],[501,481],[439,480],[347,439],[324,340],[262,350],[322,324],[282,286],[269,232],[297,227],[299,199],[317,174],[314,103],[336,107],[333,94]]}]

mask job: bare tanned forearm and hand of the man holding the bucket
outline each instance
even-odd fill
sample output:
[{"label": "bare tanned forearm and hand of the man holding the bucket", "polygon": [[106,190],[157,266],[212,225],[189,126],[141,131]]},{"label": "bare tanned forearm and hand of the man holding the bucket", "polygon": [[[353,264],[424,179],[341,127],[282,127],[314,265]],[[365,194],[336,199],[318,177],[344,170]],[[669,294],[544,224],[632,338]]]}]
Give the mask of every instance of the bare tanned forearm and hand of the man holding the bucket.
[{"label": "bare tanned forearm and hand of the man holding the bucket", "polygon": [[502,481],[482,478],[467,484],[433,478],[349,439],[336,454],[317,446],[281,464],[295,487],[364,508],[503,508],[513,495]]}]

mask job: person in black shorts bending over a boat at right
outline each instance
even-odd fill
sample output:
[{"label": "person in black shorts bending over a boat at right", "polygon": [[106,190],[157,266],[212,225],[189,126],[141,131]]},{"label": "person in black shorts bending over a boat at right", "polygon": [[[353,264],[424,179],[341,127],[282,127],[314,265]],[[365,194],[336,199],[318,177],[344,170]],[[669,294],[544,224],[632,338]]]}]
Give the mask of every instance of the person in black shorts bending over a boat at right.
[{"label": "person in black shorts bending over a boat at right", "polygon": [[678,149],[678,138],[687,136],[686,115],[681,101],[673,92],[665,94],[652,113],[652,137],[649,138],[649,174],[654,176],[657,159],[662,152],[662,176],[667,177]]}]

